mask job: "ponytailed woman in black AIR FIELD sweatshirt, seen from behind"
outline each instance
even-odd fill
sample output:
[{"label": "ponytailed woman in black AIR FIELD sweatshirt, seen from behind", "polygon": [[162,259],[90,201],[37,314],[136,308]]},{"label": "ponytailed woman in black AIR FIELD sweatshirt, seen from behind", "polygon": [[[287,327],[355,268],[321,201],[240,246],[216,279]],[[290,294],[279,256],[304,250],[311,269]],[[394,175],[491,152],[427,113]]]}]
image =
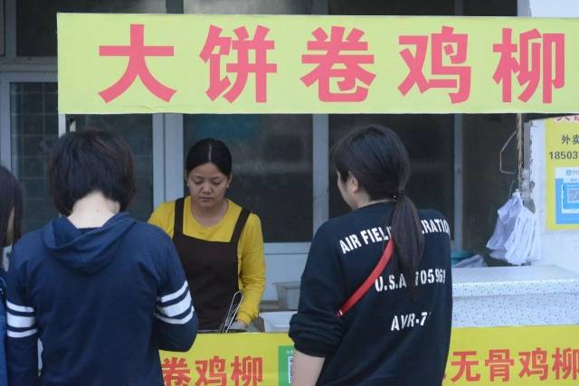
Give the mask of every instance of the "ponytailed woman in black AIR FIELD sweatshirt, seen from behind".
[{"label": "ponytailed woman in black AIR FIELD sweatshirt, seen from behind", "polygon": [[[404,193],[408,154],[385,127],[364,127],[332,149],[337,185],[353,209],[323,224],[301,278],[293,385],[440,385],[451,339],[451,243],[439,212]],[[385,245],[389,264],[343,317]]]}]

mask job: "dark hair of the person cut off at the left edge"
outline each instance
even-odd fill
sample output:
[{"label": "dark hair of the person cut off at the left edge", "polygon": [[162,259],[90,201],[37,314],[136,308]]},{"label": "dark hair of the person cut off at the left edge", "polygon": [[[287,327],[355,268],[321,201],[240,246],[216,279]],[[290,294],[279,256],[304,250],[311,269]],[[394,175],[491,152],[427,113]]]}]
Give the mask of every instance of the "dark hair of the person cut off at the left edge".
[{"label": "dark hair of the person cut off at the left edge", "polygon": [[8,169],[0,166],[0,259],[4,256],[4,247],[7,247],[8,221],[13,210],[13,242],[22,236],[23,206],[22,187]]}]

